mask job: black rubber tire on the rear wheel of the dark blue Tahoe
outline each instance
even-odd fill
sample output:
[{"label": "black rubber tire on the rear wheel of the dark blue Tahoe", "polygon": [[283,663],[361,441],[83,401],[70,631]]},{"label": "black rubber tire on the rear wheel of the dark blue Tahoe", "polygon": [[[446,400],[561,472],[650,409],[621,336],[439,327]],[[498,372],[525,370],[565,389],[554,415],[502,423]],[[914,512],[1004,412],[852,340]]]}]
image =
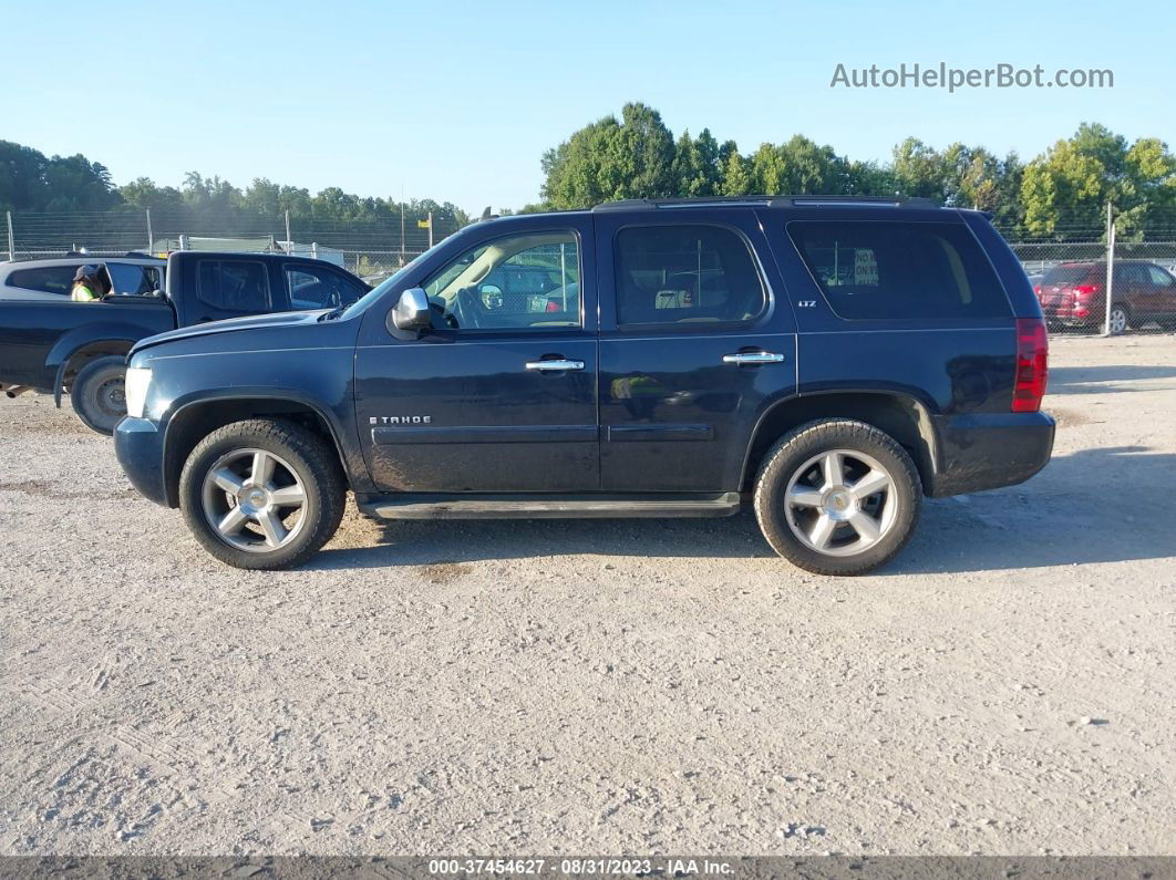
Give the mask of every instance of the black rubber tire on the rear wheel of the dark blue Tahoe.
[{"label": "black rubber tire on the rear wheel of the dark blue Tahoe", "polygon": [[[814,472],[817,465],[811,464],[813,459],[834,450],[848,451],[846,458],[850,464],[847,465],[847,475],[848,468],[862,466],[862,459],[853,458],[857,452],[873,458],[874,464],[880,465],[890,478],[890,486],[884,492],[870,496],[868,502],[848,499],[851,505],[868,503],[877,505],[880,511],[884,509],[886,516],[880,522],[884,519],[886,525],[880,530],[881,536],[875,543],[860,552],[851,550],[853,542],[844,542],[842,538],[844,545],[836,548],[835,552],[850,553],[843,556],[820,552],[801,540],[789,523],[784,503],[794,477],[800,479],[803,473]],[[771,549],[794,565],[816,575],[863,575],[884,565],[906,546],[918,522],[922,497],[918,471],[907,450],[894,438],[864,422],[830,418],[796,428],[768,450],[755,481],[755,516]],[[836,502],[844,503],[841,497]],[[886,508],[891,503],[895,504],[893,510]],[[796,510],[803,512],[803,509]],[[811,512],[820,516],[820,510]],[[856,529],[853,531],[856,533]],[[842,525],[834,532],[844,533]]]}]

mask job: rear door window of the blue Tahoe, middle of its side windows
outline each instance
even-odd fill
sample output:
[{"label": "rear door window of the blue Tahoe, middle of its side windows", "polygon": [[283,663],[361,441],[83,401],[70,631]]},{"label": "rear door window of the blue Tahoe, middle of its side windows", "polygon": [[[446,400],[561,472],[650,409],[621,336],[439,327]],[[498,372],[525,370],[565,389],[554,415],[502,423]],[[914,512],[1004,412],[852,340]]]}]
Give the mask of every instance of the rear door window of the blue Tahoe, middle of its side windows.
[{"label": "rear door window of the blue Tahoe, middle of its side windows", "polygon": [[616,234],[617,324],[756,318],[763,282],[747,243],[726,227],[630,227]]}]

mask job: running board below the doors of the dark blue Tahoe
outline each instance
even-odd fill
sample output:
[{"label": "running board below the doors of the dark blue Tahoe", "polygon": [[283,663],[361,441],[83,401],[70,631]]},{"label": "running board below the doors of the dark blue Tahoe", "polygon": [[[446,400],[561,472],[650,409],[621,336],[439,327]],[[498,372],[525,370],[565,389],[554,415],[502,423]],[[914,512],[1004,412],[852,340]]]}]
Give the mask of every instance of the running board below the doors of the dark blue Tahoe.
[{"label": "running board below the doors of the dark blue Tahoe", "polygon": [[739,492],[661,495],[368,495],[360,512],[381,519],[604,519],[726,517]]}]

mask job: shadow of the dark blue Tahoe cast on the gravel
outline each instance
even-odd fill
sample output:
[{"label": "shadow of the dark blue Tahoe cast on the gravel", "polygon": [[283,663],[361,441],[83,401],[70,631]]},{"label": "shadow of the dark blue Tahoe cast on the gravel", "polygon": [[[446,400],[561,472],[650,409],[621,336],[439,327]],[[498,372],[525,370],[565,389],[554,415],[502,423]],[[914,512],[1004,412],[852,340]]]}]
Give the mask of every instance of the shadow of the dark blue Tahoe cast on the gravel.
[{"label": "shadow of the dark blue Tahoe cast on the gravel", "polygon": [[[1176,556],[1176,529],[1114,486],[1176,496],[1176,455],[1091,448],[1054,458],[1029,483],[924,504],[907,549],[882,576],[1042,567]],[[380,523],[379,544],[327,549],[308,569],[361,569],[600,555],[773,557],[755,517],[502,519]],[[737,564],[737,563],[733,563]],[[781,562],[781,575],[797,575]]]}]

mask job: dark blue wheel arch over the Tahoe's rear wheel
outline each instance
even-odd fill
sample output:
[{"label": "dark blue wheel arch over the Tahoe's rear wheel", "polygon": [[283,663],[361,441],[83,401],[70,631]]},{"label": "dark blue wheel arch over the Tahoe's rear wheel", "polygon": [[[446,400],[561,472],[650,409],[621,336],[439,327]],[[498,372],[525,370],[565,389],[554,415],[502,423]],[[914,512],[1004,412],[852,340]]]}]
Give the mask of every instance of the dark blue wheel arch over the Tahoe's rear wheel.
[{"label": "dark blue wheel arch over the Tahoe's rear wheel", "polygon": [[742,491],[750,491],[764,455],[788,431],[820,418],[853,418],[888,434],[915,462],[924,493],[937,472],[937,441],[930,408],[901,391],[837,390],[779,401],[759,418],[743,459]]}]

